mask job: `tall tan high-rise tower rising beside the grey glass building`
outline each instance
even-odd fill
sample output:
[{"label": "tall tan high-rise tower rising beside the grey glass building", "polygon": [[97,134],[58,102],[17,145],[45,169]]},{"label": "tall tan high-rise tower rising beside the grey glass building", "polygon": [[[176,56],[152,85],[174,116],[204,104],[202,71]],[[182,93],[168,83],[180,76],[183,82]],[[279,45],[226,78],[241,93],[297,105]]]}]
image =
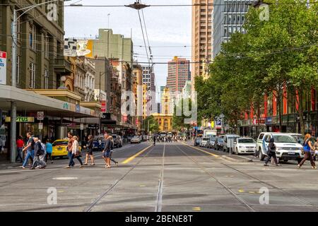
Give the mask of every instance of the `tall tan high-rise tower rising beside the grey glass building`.
[{"label": "tall tan high-rise tower rising beside the grey glass building", "polygon": [[213,56],[213,0],[192,0],[192,64],[191,81],[194,90],[194,77],[204,71],[203,62],[211,62]]}]

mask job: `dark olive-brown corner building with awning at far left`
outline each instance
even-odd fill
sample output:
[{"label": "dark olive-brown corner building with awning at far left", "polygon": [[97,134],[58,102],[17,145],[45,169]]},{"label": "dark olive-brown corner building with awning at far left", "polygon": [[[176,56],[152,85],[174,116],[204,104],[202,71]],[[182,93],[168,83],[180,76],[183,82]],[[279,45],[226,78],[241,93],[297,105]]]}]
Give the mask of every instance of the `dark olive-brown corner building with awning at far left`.
[{"label": "dark olive-brown corner building with awning at far left", "polygon": [[[98,103],[91,107],[82,105],[86,93],[85,89],[81,93],[74,88],[76,62],[71,64],[71,60],[63,54],[63,1],[55,2],[57,20],[47,18],[47,4],[42,3],[45,1],[0,1],[0,51],[6,52],[8,59],[6,83],[0,85],[0,127],[4,128],[8,156],[12,129],[10,102],[16,103],[16,128],[13,129],[16,136],[25,136],[30,131],[40,138],[54,140],[64,138],[67,131],[72,131],[80,137],[80,124],[75,119],[100,117]],[[21,10],[27,6],[34,8],[28,12]],[[18,17],[16,87],[11,86],[10,64],[13,9],[16,9]],[[25,13],[22,15],[22,12]],[[81,76],[84,81],[85,76],[84,72]],[[44,114],[42,120],[37,117],[39,112]],[[12,150],[12,153],[15,151]]]}]

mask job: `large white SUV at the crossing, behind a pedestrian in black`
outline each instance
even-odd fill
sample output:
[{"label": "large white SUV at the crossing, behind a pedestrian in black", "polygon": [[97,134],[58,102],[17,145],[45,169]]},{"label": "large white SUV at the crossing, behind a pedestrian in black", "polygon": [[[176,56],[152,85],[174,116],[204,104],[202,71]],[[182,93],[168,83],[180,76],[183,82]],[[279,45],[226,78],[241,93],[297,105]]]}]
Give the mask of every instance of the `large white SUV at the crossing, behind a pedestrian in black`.
[{"label": "large white SUV at the crossing, behind a pedestrian in black", "polygon": [[298,163],[304,158],[302,155],[302,145],[296,141],[290,133],[260,133],[257,138],[257,150],[259,158],[264,160],[269,148],[269,140],[273,138],[276,145],[276,157],[279,160],[288,162],[296,160]]}]

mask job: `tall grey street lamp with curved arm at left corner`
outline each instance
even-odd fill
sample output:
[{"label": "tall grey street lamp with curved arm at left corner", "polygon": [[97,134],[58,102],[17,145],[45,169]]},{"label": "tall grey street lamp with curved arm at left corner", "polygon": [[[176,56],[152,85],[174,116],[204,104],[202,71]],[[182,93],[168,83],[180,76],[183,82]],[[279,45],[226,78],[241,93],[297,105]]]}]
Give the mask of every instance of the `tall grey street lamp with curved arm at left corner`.
[{"label": "tall grey street lamp with curved arm at left corner", "polygon": [[[12,23],[12,71],[11,71],[11,86],[16,87],[16,61],[17,61],[17,42],[18,42],[18,35],[17,35],[17,21],[18,18],[23,16],[23,14],[28,13],[28,11],[32,10],[33,8],[36,8],[37,6],[41,6],[44,4],[52,3],[55,1],[62,1],[62,0],[52,0],[52,1],[46,1],[40,4],[35,4],[33,6],[28,6],[25,8],[13,8],[13,23]],[[71,1],[71,0],[64,0],[64,1]],[[20,14],[20,16],[16,16],[17,11],[23,11],[23,13]],[[10,143],[10,149],[11,149],[11,156],[10,160],[12,163],[16,162],[16,102],[11,101],[11,143]]]}]

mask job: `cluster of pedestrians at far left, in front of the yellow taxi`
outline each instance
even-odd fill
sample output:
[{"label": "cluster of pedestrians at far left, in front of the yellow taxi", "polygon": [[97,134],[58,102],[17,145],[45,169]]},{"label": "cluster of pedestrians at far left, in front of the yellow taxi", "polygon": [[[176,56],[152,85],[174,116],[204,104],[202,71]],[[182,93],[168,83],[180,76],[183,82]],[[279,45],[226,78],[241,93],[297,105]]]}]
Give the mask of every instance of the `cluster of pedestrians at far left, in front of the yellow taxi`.
[{"label": "cluster of pedestrians at far left, in front of the yellow taxi", "polygon": [[18,136],[16,141],[16,162],[20,160],[20,162],[23,163],[21,168],[25,169],[28,165],[30,169],[45,169],[48,157],[49,160],[51,160],[51,163],[53,163],[52,143],[49,141],[42,143],[38,137],[33,137],[30,132],[26,134],[26,137],[28,138],[26,144],[24,143],[22,136]]}]

